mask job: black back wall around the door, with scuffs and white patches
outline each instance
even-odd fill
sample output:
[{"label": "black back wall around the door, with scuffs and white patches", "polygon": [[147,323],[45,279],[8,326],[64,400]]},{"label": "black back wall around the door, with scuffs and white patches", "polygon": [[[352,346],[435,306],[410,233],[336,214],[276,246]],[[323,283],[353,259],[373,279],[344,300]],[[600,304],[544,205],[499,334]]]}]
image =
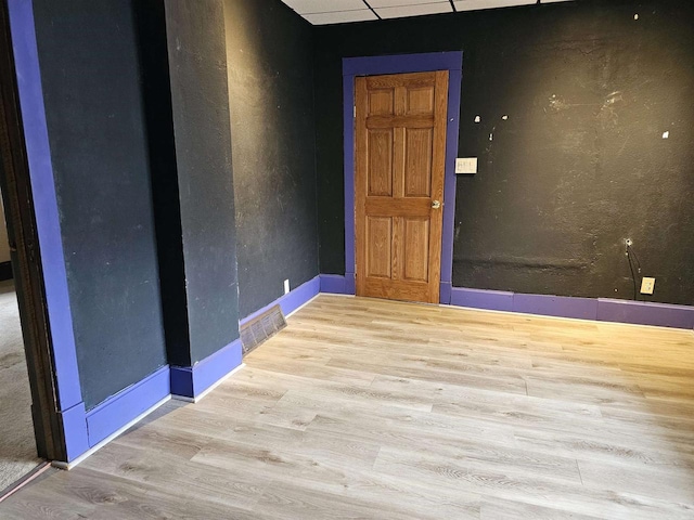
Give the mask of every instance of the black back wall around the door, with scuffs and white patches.
[{"label": "black back wall around the door, with scuffs and white patches", "polygon": [[344,273],[340,58],[463,50],[459,156],[480,164],[453,285],[629,299],[631,238],[647,298],[694,303],[692,27],[689,0],[596,0],[317,28],[321,272]]}]

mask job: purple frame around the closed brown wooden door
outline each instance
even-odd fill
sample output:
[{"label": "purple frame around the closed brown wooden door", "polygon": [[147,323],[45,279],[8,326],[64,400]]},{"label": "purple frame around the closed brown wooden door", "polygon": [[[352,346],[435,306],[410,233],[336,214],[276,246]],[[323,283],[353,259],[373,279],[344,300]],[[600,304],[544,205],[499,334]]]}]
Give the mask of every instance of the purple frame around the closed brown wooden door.
[{"label": "purple frame around the closed brown wooden door", "polygon": [[356,294],[355,244],[355,78],[386,74],[448,70],[446,169],[444,172],[444,225],[439,302],[450,303],[453,277],[453,227],[455,218],[455,157],[460,133],[460,96],[463,52],[432,52],[343,58],[344,176],[345,176],[345,292]]}]

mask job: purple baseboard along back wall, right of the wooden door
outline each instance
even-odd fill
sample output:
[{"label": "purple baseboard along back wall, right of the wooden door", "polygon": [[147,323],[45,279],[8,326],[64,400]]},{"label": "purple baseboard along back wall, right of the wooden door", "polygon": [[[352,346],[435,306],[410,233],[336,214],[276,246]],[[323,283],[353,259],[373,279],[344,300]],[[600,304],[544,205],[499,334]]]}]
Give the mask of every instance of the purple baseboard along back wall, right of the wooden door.
[{"label": "purple baseboard along back wall, right of the wooden door", "polygon": [[601,322],[694,328],[694,307],[647,301],[524,295],[502,290],[453,287],[450,304],[491,311],[522,312],[543,316]]}]

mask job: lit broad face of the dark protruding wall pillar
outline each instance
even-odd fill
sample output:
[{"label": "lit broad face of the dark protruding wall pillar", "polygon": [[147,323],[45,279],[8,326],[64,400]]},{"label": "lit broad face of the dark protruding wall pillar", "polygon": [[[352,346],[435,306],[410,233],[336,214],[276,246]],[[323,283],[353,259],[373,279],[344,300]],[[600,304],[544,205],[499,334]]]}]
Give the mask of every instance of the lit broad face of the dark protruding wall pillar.
[{"label": "lit broad face of the dark protruding wall pillar", "polygon": [[166,2],[191,362],[239,338],[221,0]]}]

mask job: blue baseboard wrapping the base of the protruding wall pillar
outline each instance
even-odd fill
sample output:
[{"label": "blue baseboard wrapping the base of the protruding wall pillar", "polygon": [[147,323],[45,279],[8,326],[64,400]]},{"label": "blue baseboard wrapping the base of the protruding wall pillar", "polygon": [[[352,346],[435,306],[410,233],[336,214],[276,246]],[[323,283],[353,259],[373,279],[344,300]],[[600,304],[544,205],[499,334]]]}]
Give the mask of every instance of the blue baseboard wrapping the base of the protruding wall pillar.
[{"label": "blue baseboard wrapping the base of the protruding wall pillar", "polygon": [[171,395],[195,400],[223,379],[242,363],[241,339],[195,363],[194,366],[172,366]]}]

